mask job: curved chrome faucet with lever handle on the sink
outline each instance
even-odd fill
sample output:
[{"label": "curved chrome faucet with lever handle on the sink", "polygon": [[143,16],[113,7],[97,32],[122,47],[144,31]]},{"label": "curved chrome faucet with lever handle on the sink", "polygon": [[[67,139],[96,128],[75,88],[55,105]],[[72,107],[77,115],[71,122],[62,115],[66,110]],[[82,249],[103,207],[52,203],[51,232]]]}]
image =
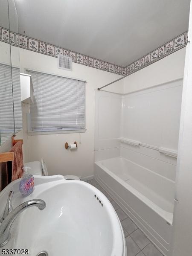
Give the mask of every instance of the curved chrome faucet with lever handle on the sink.
[{"label": "curved chrome faucet with lever handle on the sink", "polygon": [[13,191],[9,192],[3,217],[0,220],[0,222],[2,222],[0,225],[0,247],[3,247],[11,239],[10,229],[13,222],[21,212],[32,206],[36,206],[40,210],[43,210],[46,207],[45,201],[41,199],[33,199],[20,204],[15,209],[12,209],[13,193]]}]

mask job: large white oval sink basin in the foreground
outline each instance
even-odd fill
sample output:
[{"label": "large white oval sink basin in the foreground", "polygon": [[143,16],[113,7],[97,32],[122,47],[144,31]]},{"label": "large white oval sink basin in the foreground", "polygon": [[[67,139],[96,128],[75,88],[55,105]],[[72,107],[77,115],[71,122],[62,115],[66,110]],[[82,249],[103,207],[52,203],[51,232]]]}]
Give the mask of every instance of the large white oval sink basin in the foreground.
[{"label": "large white oval sink basin in the foreground", "polygon": [[41,251],[49,256],[126,256],[119,218],[102,192],[61,175],[34,177],[35,189],[27,198],[18,191],[20,180],[0,193],[0,205],[5,205],[8,192],[15,191],[14,208],[35,198],[46,202],[42,211],[31,207],[20,214],[5,248],[27,248],[31,256]]}]

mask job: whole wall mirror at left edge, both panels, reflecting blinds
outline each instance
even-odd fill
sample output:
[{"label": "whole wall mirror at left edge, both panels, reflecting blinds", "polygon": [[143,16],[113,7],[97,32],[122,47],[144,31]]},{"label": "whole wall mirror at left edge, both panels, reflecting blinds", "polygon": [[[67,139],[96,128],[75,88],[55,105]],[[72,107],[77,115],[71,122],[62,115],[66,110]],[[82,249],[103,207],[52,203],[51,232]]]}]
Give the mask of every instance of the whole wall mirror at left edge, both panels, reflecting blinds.
[{"label": "whole wall mirror at left edge, both panels, reflecting blinds", "polygon": [[0,1],[0,145],[22,129],[20,60],[14,0]]}]

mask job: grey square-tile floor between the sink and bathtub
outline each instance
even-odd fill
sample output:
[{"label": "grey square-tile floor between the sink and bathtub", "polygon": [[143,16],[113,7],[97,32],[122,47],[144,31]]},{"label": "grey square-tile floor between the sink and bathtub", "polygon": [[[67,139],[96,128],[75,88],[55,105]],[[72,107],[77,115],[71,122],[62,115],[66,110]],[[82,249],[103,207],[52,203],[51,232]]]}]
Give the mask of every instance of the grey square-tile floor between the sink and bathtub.
[{"label": "grey square-tile floor between the sink and bathtub", "polygon": [[96,180],[88,180],[87,182],[99,189],[116,210],[125,234],[127,256],[163,256]]}]

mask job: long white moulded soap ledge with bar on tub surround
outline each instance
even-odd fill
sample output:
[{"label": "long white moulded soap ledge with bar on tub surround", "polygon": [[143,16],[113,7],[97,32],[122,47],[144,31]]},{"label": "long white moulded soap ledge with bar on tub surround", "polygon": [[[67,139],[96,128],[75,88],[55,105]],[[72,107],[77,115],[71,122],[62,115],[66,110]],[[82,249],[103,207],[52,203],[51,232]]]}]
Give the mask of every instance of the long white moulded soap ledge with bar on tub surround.
[{"label": "long white moulded soap ledge with bar on tub surround", "polygon": [[160,153],[163,153],[163,154],[168,155],[170,157],[177,158],[177,151],[169,149],[169,148],[159,148],[159,147],[154,146],[154,145],[141,143],[137,140],[130,140],[130,139],[123,138],[123,137],[119,138],[119,142],[126,143],[126,144],[129,144],[129,145],[132,145],[132,146],[142,146],[142,147],[145,147],[145,148],[151,148],[151,149],[154,149],[154,150],[158,150]]}]

